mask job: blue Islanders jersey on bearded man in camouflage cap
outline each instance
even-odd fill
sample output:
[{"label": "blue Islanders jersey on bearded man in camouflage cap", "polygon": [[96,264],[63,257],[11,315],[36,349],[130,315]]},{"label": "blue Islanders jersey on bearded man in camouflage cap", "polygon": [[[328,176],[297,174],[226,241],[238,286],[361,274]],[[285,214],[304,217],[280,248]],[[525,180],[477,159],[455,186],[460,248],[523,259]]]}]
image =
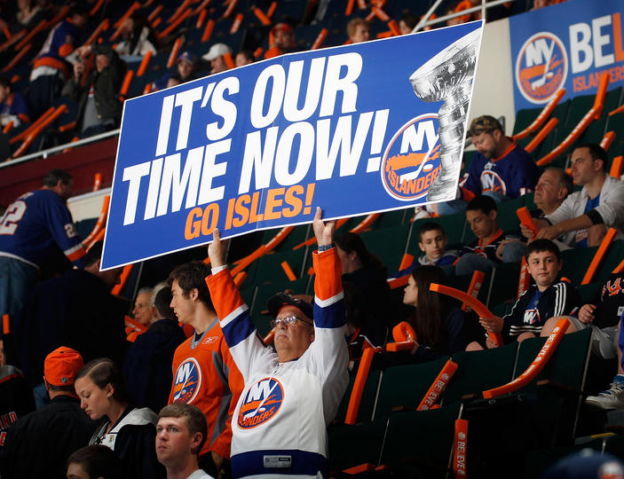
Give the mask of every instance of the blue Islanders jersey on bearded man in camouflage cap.
[{"label": "blue Islanders jersey on bearded man in camouflage cap", "polygon": [[539,177],[540,170],[531,155],[522,146],[512,143],[498,158],[488,160],[481,153],[475,153],[468,177],[461,186],[475,194],[494,191],[517,198],[533,190]]}]

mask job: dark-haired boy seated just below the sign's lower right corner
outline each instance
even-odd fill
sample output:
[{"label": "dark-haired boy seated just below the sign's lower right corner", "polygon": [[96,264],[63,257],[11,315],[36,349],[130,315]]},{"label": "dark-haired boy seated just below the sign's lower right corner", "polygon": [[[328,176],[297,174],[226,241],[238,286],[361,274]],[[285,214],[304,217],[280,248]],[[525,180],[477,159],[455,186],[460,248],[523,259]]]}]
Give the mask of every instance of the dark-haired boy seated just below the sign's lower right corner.
[{"label": "dark-haired boy seated just below the sign's lower right corner", "polygon": [[393,273],[390,277],[401,278],[425,264],[440,266],[446,275],[453,275],[453,263],[459,257],[459,253],[454,249],[446,251],[448,238],[442,226],[433,222],[425,223],[418,230],[418,238],[418,247],[421,248],[423,255],[416,258],[405,270]]}]

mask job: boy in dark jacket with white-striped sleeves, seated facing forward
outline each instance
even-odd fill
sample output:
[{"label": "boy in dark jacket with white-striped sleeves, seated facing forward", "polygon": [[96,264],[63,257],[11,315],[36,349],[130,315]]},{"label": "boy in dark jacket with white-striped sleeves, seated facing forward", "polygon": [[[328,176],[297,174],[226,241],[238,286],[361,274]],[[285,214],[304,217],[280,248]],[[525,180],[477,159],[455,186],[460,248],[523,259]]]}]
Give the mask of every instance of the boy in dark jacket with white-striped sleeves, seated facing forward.
[{"label": "boy in dark jacket with white-striped sleeves, seated facing forward", "polygon": [[[559,248],[550,240],[533,240],[526,247],[526,263],[535,284],[529,287],[504,318],[481,318],[487,332],[502,333],[504,342],[523,342],[539,336],[542,328],[552,330],[552,318],[572,314],[581,305],[575,287],[559,279],[563,267]],[[558,319],[558,318],[557,318]],[[556,323],[555,323],[556,324]],[[495,344],[489,338],[487,348]],[[471,342],[467,350],[483,349],[483,344]]]}]

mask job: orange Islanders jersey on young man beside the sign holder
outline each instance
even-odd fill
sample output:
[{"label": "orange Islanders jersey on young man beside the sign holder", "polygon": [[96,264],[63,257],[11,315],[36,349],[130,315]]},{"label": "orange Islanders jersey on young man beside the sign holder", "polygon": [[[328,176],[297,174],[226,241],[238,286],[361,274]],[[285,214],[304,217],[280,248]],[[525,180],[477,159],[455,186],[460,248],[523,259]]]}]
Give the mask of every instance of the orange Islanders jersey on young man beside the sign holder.
[{"label": "orange Islanders jersey on young man beside the sign holder", "polygon": [[173,357],[169,404],[193,404],[206,415],[208,439],[200,456],[214,451],[230,459],[231,420],[243,381],[218,321],[195,342],[194,335],[178,346]]}]

